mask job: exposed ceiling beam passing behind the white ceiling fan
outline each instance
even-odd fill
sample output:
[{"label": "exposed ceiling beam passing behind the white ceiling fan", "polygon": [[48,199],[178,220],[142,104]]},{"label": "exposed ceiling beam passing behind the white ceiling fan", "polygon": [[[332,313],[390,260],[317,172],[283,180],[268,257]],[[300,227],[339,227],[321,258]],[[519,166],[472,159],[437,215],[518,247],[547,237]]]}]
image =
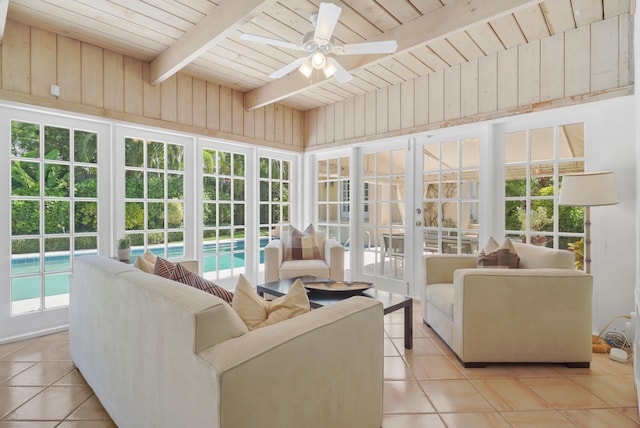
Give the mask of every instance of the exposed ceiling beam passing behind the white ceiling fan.
[{"label": "exposed ceiling beam passing behind the white ceiling fan", "polygon": [[[336,2],[337,3],[337,2]],[[453,0],[446,6],[422,15],[391,31],[380,34],[368,41],[396,40],[396,53],[408,51],[418,46],[463,31],[480,22],[488,22],[513,13],[523,7],[541,3],[541,0]],[[348,70],[372,65],[387,55],[349,55],[340,56],[340,64]],[[247,110],[274,103],[308,88],[317,86],[326,79],[321,73],[315,73],[307,79],[301,73],[291,73],[281,79],[267,83],[245,94],[244,105]]]}]

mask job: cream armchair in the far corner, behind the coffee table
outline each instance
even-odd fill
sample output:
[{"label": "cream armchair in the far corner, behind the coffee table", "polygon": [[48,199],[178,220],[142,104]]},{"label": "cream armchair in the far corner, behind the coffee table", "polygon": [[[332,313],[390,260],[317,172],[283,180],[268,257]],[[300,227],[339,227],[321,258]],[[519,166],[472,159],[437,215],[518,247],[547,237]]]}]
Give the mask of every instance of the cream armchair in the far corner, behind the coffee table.
[{"label": "cream armchair in the far corner, behind the coffee table", "polygon": [[270,241],[264,249],[265,282],[304,275],[344,280],[344,247],[335,239],[325,239],[322,233],[316,232],[316,237],[319,258],[306,260],[285,260],[287,240]]}]

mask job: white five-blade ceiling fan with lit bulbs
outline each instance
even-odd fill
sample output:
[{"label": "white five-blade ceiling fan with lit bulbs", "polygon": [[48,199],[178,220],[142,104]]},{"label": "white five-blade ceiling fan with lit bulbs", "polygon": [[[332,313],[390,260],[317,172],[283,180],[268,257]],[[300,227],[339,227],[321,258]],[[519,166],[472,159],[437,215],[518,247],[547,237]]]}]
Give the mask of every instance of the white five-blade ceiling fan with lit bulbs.
[{"label": "white five-blade ceiling fan with lit bulbs", "polygon": [[328,79],[334,76],[340,83],[346,83],[353,78],[333,55],[362,55],[362,54],[383,54],[393,53],[398,49],[395,40],[383,40],[378,42],[349,43],[336,45],[333,37],[333,30],[338,23],[338,18],[342,8],[333,3],[320,3],[318,13],[314,13],[309,18],[314,31],[306,33],[302,37],[302,43],[292,43],[283,40],[270,39],[268,37],[256,36],[253,34],[242,34],[243,40],[263,43],[282,48],[294,49],[307,52],[307,55],[298,58],[279,70],[269,75],[272,79],[278,79],[295,70],[296,68],[305,76],[311,76],[313,70],[322,70]]}]

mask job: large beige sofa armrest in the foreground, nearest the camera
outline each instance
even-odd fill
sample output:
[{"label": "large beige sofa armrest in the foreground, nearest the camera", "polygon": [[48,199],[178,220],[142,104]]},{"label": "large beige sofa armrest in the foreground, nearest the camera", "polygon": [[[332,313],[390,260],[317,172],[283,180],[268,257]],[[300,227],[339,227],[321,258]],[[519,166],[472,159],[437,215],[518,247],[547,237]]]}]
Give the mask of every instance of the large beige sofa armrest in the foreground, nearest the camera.
[{"label": "large beige sofa armrest in the foreground, nearest the camera", "polygon": [[383,334],[382,304],[358,296],[198,353],[219,376],[220,425],[380,427]]}]

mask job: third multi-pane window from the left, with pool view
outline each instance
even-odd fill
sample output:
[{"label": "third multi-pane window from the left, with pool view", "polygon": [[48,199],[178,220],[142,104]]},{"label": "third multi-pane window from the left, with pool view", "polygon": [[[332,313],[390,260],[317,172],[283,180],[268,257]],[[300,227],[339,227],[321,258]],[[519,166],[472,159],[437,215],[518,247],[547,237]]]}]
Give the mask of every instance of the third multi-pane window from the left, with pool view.
[{"label": "third multi-pane window from the left, with pool view", "polygon": [[210,279],[245,271],[246,156],[202,150],[203,272]]}]

